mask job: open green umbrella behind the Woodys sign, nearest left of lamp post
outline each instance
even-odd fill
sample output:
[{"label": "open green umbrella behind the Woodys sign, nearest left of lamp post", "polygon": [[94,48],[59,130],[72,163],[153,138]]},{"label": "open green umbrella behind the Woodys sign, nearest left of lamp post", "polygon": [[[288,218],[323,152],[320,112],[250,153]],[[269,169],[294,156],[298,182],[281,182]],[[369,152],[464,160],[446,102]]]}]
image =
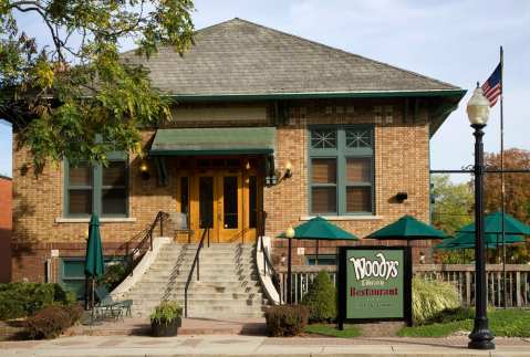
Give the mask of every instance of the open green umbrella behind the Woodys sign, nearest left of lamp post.
[{"label": "open green umbrella behind the Woodys sign, nearest left of lamp post", "polygon": [[380,240],[412,240],[444,239],[448,235],[412,216],[403,216],[397,221],[383,227],[366,238]]}]

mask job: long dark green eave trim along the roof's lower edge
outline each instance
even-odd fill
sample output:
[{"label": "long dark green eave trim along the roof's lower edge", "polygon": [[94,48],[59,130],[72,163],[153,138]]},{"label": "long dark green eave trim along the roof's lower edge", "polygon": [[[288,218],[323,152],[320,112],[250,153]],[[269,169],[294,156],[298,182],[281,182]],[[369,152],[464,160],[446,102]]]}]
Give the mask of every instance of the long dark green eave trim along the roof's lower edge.
[{"label": "long dark green eave trim along the roof's lower edge", "polygon": [[467,91],[382,91],[382,92],[313,92],[267,94],[174,94],[167,97],[177,102],[202,101],[257,101],[257,99],[330,99],[330,98],[384,98],[384,97],[446,97],[463,98]]}]

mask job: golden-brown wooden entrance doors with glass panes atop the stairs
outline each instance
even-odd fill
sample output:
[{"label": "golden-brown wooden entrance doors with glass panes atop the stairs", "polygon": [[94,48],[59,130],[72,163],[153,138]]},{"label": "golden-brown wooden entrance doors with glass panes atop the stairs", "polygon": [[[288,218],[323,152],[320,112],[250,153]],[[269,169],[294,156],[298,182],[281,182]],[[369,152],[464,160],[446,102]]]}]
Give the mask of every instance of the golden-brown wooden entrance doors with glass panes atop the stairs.
[{"label": "golden-brown wooden entrance doors with glass panes atop the stairs", "polygon": [[261,179],[252,171],[201,170],[180,177],[179,209],[189,217],[198,242],[209,229],[210,242],[253,242],[260,224]]}]

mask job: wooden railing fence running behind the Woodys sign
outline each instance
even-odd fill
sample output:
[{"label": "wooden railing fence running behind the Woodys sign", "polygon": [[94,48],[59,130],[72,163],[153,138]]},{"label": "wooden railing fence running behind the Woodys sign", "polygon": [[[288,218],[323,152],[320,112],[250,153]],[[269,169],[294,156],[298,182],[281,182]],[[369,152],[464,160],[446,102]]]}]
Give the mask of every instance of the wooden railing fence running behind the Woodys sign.
[{"label": "wooden railing fence running behind the Woodys sign", "polygon": [[[334,265],[300,265],[292,267],[291,296],[294,303],[306,294],[309,285],[320,271],[330,273],[333,282],[336,277]],[[502,265],[486,266],[488,282],[488,302],[492,306],[503,306],[503,273]],[[464,305],[475,303],[475,265],[471,264],[420,264],[413,269],[415,276],[426,280],[451,282],[460,293]],[[287,301],[287,270],[279,270],[282,301]],[[506,265],[507,306],[530,307],[530,264]]]}]

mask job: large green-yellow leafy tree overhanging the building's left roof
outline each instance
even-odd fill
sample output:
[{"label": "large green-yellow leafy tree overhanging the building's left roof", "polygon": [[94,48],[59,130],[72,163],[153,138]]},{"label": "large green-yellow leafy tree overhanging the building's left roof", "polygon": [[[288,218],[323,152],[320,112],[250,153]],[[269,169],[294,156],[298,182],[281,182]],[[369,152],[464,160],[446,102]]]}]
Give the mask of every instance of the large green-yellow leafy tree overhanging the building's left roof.
[{"label": "large green-yellow leafy tree overhanging the building's left roof", "polygon": [[[160,44],[191,44],[191,0],[0,0],[0,117],[48,160],[103,161],[110,150],[138,150],[138,127],[170,118],[148,73],[119,57],[135,41],[148,57]],[[18,27],[37,15],[51,45]],[[101,139],[104,138],[104,139]]]}]

